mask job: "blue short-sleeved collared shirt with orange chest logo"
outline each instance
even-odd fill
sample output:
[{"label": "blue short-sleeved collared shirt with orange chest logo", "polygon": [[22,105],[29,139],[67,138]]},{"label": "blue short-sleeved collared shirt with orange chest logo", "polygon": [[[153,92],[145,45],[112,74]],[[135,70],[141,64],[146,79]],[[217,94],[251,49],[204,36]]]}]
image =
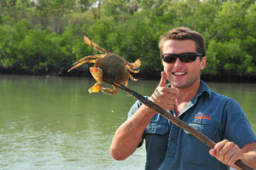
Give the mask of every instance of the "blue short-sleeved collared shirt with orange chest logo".
[{"label": "blue short-sleeved collared shirt with orange chest logo", "polygon": [[[141,102],[137,101],[128,117],[140,105]],[[175,116],[174,111],[170,113]],[[212,92],[202,81],[195,97],[177,117],[215,143],[228,139],[242,148],[256,142],[255,134],[236,100]],[[149,122],[143,139],[146,144],[146,170],[230,169],[209,154],[210,148],[206,144],[160,114],[155,114]]]}]

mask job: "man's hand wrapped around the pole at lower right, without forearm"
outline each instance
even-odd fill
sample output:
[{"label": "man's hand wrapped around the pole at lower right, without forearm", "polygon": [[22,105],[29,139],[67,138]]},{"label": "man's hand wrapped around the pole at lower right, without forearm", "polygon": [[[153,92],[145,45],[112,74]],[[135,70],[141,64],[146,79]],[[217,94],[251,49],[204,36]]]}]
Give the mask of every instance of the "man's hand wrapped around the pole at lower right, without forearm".
[{"label": "man's hand wrapped around the pole at lower right, without forearm", "polygon": [[237,160],[244,161],[243,152],[239,146],[227,139],[215,144],[214,149],[209,150],[209,153],[211,156],[216,157],[218,161],[236,169],[241,168],[237,167],[235,162]]}]

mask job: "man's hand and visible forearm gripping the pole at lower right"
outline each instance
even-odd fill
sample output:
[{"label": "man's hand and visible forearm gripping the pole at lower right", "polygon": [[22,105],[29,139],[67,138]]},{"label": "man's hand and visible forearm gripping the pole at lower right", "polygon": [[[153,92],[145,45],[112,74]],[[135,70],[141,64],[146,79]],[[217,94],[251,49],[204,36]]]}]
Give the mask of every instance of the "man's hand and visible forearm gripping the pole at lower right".
[{"label": "man's hand and visible forearm gripping the pole at lower right", "polygon": [[214,149],[209,151],[211,156],[214,156],[218,161],[224,164],[241,169],[235,165],[236,160],[241,160],[248,166],[256,169],[256,143],[247,144],[240,149],[235,143],[227,139],[215,144]]}]

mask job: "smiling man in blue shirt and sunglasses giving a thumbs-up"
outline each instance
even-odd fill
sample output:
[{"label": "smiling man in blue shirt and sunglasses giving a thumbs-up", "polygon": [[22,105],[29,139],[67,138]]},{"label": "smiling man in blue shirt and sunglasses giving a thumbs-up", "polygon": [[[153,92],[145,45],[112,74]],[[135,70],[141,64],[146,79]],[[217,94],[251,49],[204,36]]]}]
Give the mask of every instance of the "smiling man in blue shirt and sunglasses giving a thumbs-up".
[{"label": "smiling man in blue shirt and sunglasses giving a thumbs-up", "polygon": [[[214,149],[137,101],[113,137],[110,153],[125,160],[146,142],[145,169],[224,170],[240,159],[256,168],[256,137],[234,99],[212,92],[201,81],[207,64],[201,34],[180,27],[160,40],[164,71],[148,99],[217,144]],[[167,80],[170,84],[166,85]]]}]

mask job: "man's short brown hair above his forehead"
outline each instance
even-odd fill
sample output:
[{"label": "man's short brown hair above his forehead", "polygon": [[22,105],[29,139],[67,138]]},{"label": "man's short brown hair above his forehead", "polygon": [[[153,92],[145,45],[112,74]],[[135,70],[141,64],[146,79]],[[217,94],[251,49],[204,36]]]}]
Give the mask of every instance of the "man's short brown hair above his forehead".
[{"label": "man's short brown hair above his forehead", "polygon": [[206,55],[205,40],[197,31],[190,30],[186,27],[177,27],[168,31],[166,35],[160,38],[159,48],[160,54],[163,54],[163,44],[168,40],[192,40],[195,42],[195,48],[198,53]]}]

